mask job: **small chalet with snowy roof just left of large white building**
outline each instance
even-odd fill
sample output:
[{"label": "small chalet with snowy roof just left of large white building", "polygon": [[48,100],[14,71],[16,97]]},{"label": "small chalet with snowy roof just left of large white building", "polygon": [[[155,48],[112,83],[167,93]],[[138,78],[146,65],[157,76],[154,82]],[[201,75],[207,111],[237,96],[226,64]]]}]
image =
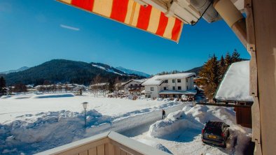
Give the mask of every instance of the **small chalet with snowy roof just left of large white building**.
[{"label": "small chalet with snowy roof just left of large white building", "polygon": [[142,85],[143,82],[145,82],[146,79],[142,80],[129,80],[122,84],[122,87],[125,91],[125,93],[135,93],[135,92],[141,92],[144,90],[144,86]]}]

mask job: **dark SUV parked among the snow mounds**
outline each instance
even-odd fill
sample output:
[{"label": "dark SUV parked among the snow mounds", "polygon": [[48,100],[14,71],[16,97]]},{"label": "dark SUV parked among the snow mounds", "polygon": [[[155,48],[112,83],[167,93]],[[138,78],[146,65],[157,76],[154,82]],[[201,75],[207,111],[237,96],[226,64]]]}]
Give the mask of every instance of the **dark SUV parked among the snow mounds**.
[{"label": "dark SUV parked among the snow mounds", "polygon": [[201,139],[204,143],[226,147],[229,125],[222,121],[208,121],[202,129]]}]

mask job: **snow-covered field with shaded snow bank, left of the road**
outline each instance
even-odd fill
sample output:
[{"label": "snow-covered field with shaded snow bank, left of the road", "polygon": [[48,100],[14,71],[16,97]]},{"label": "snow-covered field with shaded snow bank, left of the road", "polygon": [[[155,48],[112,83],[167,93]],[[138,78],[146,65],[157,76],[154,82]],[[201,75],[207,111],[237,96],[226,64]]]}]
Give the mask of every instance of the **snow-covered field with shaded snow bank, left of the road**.
[{"label": "snow-covered field with shaded snow bank, left of the road", "polygon": [[[87,129],[81,103],[88,102]],[[123,130],[121,120],[174,108],[176,101],[94,97],[92,94],[18,94],[0,98],[0,154],[33,154],[95,134]],[[150,115],[149,115],[150,116]],[[132,119],[132,118],[139,119]],[[143,120],[142,120],[143,121]],[[141,122],[137,122],[139,124]],[[132,127],[135,122],[132,122]],[[95,130],[94,130],[95,129]]]}]

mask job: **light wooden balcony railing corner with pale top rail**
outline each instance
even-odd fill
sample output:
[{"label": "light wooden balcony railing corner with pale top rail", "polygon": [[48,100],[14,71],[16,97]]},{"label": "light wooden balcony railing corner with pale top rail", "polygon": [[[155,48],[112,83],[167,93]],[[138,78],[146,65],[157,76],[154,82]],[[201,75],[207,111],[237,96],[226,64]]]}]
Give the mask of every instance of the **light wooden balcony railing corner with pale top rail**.
[{"label": "light wooden balcony railing corner with pale top rail", "polygon": [[74,155],[130,155],[130,154],[157,154],[168,155],[137,140],[132,140],[124,135],[109,131],[99,135],[71,142],[54,149],[49,149],[37,155],[46,154],[74,154]]}]

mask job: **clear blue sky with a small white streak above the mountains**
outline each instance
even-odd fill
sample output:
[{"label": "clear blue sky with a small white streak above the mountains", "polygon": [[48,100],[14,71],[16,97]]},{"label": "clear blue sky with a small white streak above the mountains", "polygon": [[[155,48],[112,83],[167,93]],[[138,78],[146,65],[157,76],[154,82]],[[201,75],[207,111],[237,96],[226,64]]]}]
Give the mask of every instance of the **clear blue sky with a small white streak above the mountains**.
[{"label": "clear blue sky with a small white streak above the mountains", "polygon": [[51,59],[101,62],[155,74],[247,50],[225,22],[185,25],[179,44],[53,0],[0,1],[0,71]]}]

